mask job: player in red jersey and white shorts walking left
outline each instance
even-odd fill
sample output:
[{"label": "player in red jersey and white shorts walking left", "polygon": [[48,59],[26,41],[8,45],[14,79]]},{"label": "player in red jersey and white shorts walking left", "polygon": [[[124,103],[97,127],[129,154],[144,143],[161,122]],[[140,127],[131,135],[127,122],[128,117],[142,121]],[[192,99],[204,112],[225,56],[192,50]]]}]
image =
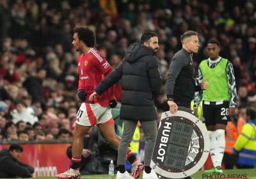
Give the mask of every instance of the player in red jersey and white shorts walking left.
[{"label": "player in red jersey and white shorts walking left", "polygon": [[[77,60],[79,70],[78,97],[83,104],[77,112],[76,128],[73,133],[72,164],[70,169],[56,175],[57,178],[80,178],[79,166],[83,152],[83,137],[90,128],[97,125],[106,141],[118,148],[121,141],[115,133],[115,124],[111,114],[111,108],[116,107],[113,88],[109,88],[97,99],[90,101],[88,98],[93,93],[95,86],[106,75],[112,72],[109,63],[102,54],[93,49],[96,44],[95,33],[87,26],[79,26],[74,29],[72,44],[76,51],[83,54]],[[143,164],[139,162],[131,150],[128,149],[126,159],[132,164],[133,177],[140,175]]]}]

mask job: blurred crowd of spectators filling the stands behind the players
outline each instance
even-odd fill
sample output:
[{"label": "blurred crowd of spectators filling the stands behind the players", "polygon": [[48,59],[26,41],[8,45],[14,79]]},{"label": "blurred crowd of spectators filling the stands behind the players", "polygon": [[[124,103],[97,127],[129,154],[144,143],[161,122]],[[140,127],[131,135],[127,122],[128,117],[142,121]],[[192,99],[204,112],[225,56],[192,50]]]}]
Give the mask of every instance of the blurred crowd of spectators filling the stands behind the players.
[{"label": "blurred crowd of spectators filling the stands behind the players", "polygon": [[[256,1],[227,0],[0,0],[0,141],[72,139],[77,109],[80,52],[72,29],[90,26],[96,49],[113,69],[145,31],[159,35],[159,71],[164,79],[155,100],[159,120],[168,111],[168,66],[182,47],[180,35],[198,32],[195,69],[207,58],[205,44],[216,39],[220,55],[234,66],[236,119],[256,110]],[[197,75],[195,70],[195,77]],[[121,100],[120,83],[115,98]],[[141,136],[143,136],[141,134]]]}]

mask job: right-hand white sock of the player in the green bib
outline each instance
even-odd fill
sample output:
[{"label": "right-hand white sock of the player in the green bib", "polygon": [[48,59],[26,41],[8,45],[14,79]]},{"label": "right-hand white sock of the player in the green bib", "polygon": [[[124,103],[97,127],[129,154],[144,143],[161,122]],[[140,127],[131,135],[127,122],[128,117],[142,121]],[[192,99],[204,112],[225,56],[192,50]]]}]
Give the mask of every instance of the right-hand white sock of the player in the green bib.
[{"label": "right-hand white sock of the player in the green bib", "polygon": [[225,130],[223,129],[217,129],[217,144],[216,144],[216,162],[213,164],[214,167],[220,166],[223,159],[225,146],[226,146],[226,140],[225,140]]}]

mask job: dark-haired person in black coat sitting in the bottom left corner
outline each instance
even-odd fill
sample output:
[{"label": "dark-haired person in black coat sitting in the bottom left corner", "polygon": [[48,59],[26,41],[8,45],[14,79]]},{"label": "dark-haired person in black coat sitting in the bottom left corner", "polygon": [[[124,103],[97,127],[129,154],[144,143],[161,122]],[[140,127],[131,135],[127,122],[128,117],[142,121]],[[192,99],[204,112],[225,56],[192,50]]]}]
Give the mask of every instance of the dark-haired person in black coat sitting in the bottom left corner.
[{"label": "dark-haired person in black coat sitting in the bottom left corner", "polygon": [[19,161],[23,148],[12,144],[0,152],[0,178],[31,178],[33,167]]}]

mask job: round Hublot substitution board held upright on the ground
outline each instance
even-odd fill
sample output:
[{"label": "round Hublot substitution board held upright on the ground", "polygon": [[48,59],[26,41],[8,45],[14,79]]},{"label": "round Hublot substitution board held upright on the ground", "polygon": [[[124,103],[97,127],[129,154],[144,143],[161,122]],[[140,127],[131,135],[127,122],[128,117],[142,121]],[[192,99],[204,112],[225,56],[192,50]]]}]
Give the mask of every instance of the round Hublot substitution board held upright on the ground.
[{"label": "round Hublot substitution board held upright on the ground", "polygon": [[185,178],[198,171],[207,160],[210,139],[195,111],[179,107],[177,113],[164,112],[150,167],[159,178]]}]

